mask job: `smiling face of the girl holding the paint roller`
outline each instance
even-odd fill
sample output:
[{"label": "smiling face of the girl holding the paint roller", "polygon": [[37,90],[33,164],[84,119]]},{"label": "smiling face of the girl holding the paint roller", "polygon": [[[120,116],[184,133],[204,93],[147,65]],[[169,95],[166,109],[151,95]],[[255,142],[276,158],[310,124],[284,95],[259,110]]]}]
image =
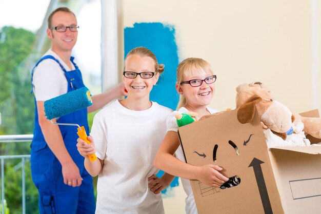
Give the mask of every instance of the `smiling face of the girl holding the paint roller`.
[{"label": "smiling face of the girl holding the paint roller", "polygon": [[[125,61],[125,71],[131,71],[135,73],[155,72],[155,62],[149,56],[132,54],[129,55]],[[125,88],[128,91],[128,98],[145,99],[149,101],[150,91],[157,83],[158,76],[158,73],[149,79],[143,79],[140,75],[137,75],[134,79],[123,76]]]}]

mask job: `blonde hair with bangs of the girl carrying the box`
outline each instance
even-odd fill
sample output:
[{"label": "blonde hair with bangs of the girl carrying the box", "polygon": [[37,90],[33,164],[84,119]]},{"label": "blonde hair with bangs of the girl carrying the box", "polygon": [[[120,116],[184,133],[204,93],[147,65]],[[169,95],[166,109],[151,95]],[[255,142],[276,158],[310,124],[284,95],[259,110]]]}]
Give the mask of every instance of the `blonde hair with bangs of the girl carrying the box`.
[{"label": "blonde hair with bangs of the girl carrying the box", "polygon": [[[191,57],[191,58],[187,58],[187,59],[183,60],[177,66],[176,85],[180,85],[180,82],[183,81],[185,76],[193,76],[196,73],[198,73],[200,70],[203,70],[210,75],[214,75],[214,71],[212,69],[212,66],[203,59]],[[186,104],[185,95],[180,94],[179,102],[177,104],[176,109],[178,110],[180,107],[185,106],[185,104]]]}]

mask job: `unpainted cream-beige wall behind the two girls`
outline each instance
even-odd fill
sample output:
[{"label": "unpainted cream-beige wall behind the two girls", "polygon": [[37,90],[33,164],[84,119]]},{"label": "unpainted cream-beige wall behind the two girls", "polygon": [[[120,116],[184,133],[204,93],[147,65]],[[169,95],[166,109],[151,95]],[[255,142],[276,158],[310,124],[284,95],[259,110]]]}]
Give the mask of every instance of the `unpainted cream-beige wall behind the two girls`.
[{"label": "unpainted cream-beige wall behind the two girls", "polygon": [[202,57],[216,71],[213,108],[234,108],[236,86],[259,81],[278,101],[302,112],[321,110],[320,11],[319,0],[123,0],[121,24],[173,25],[179,61]]}]

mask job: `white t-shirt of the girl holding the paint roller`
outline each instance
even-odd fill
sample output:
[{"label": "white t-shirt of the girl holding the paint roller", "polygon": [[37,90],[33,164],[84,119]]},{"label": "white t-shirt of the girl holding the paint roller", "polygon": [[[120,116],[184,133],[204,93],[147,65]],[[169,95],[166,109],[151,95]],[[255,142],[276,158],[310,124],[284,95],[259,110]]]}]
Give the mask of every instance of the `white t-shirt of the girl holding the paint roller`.
[{"label": "white t-shirt of the girl holding the paint roller", "polygon": [[96,214],[163,214],[161,194],[148,188],[147,178],[156,174],[155,154],[166,134],[171,109],[152,102],[143,111],[133,111],[119,101],[94,116],[91,136],[99,159]]}]

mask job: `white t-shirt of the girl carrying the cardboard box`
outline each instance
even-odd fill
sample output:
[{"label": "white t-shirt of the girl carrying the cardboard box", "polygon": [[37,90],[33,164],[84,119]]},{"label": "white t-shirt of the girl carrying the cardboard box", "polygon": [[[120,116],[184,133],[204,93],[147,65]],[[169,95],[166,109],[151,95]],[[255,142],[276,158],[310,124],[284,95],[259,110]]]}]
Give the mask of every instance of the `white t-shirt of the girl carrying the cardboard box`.
[{"label": "white t-shirt of the girl carrying the cardboard box", "polygon": [[[218,112],[218,110],[214,110],[211,108],[207,108],[207,110],[213,114]],[[178,130],[178,126],[177,126],[177,122],[176,122],[176,118],[175,118],[175,114],[179,113],[184,113],[188,111],[185,107],[180,107],[178,109],[178,111],[173,111],[167,118],[166,121],[166,125],[167,125],[167,131],[175,131],[177,132]],[[179,147],[177,148],[176,152],[175,152],[176,158],[179,159],[180,161],[183,161],[186,163],[185,157],[184,157],[184,152],[182,149],[182,146],[179,145]],[[196,208],[196,204],[195,204],[195,200],[194,200],[194,196],[193,196],[193,191],[192,191],[192,187],[191,187],[191,183],[190,180],[187,179],[183,179],[180,178],[180,180],[182,181],[182,185],[183,188],[187,194],[187,197],[185,199],[185,211],[187,214],[197,214],[197,208]]]}]

